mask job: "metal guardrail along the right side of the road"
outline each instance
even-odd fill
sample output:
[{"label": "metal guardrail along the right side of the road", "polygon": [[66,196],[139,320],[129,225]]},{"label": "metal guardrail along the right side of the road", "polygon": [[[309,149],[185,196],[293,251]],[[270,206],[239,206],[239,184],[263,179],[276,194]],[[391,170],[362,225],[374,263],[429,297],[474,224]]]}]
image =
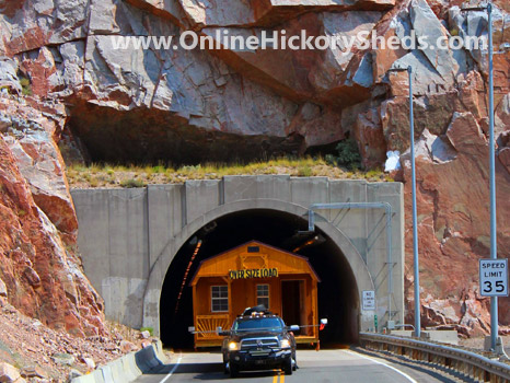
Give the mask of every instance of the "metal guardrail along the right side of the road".
[{"label": "metal guardrail along the right side of the road", "polygon": [[472,351],[373,333],[360,333],[359,340],[363,348],[442,364],[480,382],[510,382],[510,364]]}]

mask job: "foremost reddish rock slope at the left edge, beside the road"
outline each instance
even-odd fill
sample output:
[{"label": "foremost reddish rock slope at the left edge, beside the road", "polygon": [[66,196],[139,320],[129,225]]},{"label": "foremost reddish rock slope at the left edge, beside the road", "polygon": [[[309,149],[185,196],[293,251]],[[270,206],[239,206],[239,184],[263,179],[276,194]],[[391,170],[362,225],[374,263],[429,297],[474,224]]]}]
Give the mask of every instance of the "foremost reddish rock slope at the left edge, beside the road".
[{"label": "foremost reddish rock slope at the left edge, beside the road", "polygon": [[[103,301],[69,259],[0,137],[0,279],[26,315],[76,336],[104,334]],[[86,306],[85,315],[80,306]]]}]

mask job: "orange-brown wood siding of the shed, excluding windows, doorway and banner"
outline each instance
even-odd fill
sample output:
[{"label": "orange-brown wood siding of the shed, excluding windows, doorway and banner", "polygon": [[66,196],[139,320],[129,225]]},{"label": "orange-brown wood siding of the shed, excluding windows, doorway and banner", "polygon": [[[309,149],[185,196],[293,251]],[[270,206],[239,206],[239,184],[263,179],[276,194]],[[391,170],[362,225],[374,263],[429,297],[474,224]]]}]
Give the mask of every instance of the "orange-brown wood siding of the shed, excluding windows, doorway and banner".
[{"label": "orange-brown wood siding of the shed, excluding windows, doorway and banner", "polygon": [[[259,253],[247,253],[247,246],[258,246]],[[278,277],[230,279],[230,270],[250,268],[277,268]],[[227,252],[220,256],[209,258],[201,263],[197,275],[192,282],[194,289],[194,318],[197,330],[215,329],[221,325],[229,328],[235,317],[246,307],[257,304],[256,286],[269,285],[269,311],[283,317],[282,312],[282,281],[302,280],[301,288],[301,325],[316,325],[317,320],[317,278],[306,259],[285,252],[266,247],[259,243],[248,243],[242,247]],[[212,312],[211,287],[229,287],[229,311]],[[295,299],[290,298],[289,299]],[[283,320],[286,320],[283,317]],[[287,322],[287,321],[286,321]],[[287,323],[293,325],[298,323]],[[305,327],[299,336],[318,339],[316,327]],[[213,334],[195,336],[195,346],[221,345],[221,337]]]}]

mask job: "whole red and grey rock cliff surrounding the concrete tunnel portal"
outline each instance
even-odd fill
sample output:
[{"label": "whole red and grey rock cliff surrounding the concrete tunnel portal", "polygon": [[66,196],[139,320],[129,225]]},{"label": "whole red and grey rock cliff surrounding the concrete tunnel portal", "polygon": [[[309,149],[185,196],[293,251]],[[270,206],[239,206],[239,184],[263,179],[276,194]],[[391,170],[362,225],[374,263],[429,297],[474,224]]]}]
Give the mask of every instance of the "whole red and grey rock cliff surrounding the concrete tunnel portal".
[{"label": "whole red and grey rock cliff surrounding the concrete tunnel portal", "polygon": [[[510,42],[510,10],[506,0],[494,3],[499,49]],[[309,36],[346,38],[366,32],[399,40],[412,39],[412,34],[428,39],[487,35],[486,15],[461,12],[461,0],[2,2],[0,114],[5,156],[1,170],[7,175],[0,207],[9,219],[2,222],[18,222],[13,225],[20,231],[14,235],[12,224],[4,223],[0,242],[3,256],[10,259],[5,265],[12,265],[12,270],[2,266],[0,275],[10,299],[18,299],[12,294],[16,295],[19,280],[30,287],[26,302],[16,301],[26,310],[40,307],[31,303],[58,290],[51,299],[63,302],[69,312],[59,311],[58,316],[44,305],[46,312],[40,315],[48,320],[57,315],[63,326],[79,322],[79,332],[89,330],[88,324],[101,311],[100,299],[66,255],[77,222],[57,147],[62,132],[92,161],[140,163],[303,154],[351,137],[363,164],[376,167],[387,150],[408,150],[407,73],[391,69],[412,66],[415,138],[419,140],[424,321],[456,326],[465,334],[486,332],[487,300],[476,286],[477,259],[488,255],[489,235],[485,50],[381,46],[186,50],[181,46],[158,49],[154,44],[148,49],[115,49],[113,38],[173,36],[177,40],[184,31],[195,31],[215,40],[221,34],[247,37],[282,30],[288,35],[305,31]],[[509,78],[510,54],[497,55],[501,257],[508,257],[510,248]],[[408,153],[402,163],[408,206]],[[406,229],[410,304],[410,217]],[[26,248],[16,244],[19,237]],[[58,252],[36,256],[49,248],[48,243]],[[8,255],[16,248],[22,248],[19,260]],[[55,270],[47,267],[51,259],[60,265]],[[66,278],[72,281],[66,283]],[[84,300],[92,309],[80,312]],[[500,302],[500,322],[510,325],[510,302]]]}]

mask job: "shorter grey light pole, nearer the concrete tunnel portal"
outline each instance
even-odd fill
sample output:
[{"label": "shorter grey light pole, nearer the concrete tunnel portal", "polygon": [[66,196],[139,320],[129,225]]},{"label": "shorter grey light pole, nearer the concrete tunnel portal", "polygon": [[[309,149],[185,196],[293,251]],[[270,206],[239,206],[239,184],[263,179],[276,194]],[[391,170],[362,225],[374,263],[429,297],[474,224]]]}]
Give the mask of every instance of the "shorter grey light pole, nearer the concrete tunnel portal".
[{"label": "shorter grey light pole, nearer the concrete tunnel portal", "polygon": [[415,270],[415,336],[421,336],[421,317],[419,301],[419,258],[418,258],[418,219],[416,206],[416,164],[415,164],[415,116],[413,106],[413,68],[392,68],[389,72],[408,73],[409,81],[409,134],[410,134],[410,173],[413,187],[413,266]]}]

